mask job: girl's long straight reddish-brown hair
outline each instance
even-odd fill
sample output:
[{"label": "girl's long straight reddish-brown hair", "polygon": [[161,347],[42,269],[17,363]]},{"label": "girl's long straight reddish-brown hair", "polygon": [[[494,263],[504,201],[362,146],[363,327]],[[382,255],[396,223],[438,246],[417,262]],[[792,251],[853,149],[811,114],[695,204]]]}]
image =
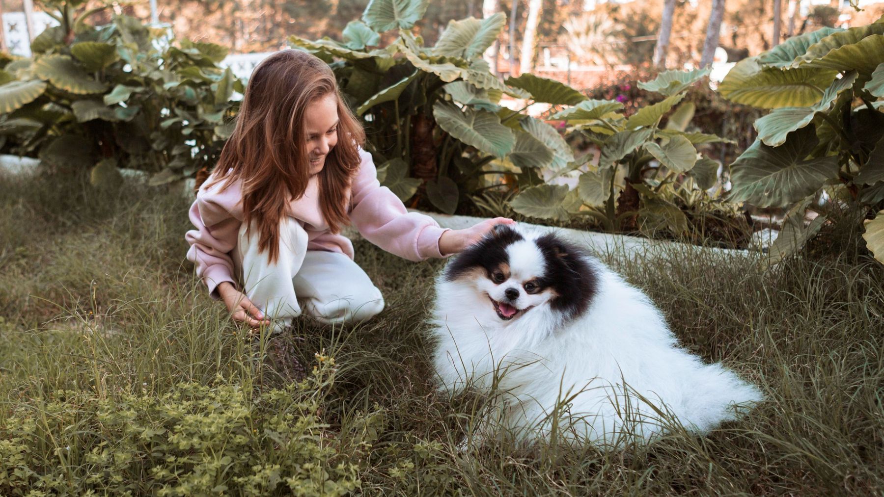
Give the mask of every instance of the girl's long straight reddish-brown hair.
[{"label": "girl's long straight reddish-brown hair", "polygon": [[278,257],[279,222],[286,205],[301,198],[309,181],[304,117],[310,103],[329,94],[338,100],[338,144],[319,173],[319,205],[331,232],[349,222],[347,192],[359,167],[362,125],[340,96],[328,64],[300,50],[281,50],[252,72],[236,127],[221,151],[207,186],[240,181],[243,222],[260,233],[258,250]]}]

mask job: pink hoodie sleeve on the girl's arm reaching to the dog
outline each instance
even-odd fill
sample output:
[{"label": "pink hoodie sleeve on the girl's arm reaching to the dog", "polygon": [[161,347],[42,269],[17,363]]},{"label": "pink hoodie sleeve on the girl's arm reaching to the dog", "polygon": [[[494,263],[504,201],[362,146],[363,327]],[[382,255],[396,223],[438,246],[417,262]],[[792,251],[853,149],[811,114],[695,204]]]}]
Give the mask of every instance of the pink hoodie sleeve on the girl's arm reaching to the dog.
[{"label": "pink hoodie sleeve on the girl's arm reaching to the dog", "polygon": [[444,257],[439,237],[447,229],[430,216],[409,213],[399,197],[377,181],[371,154],[360,148],[359,156],[350,197],[350,221],[356,230],[372,244],[408,260]]}]

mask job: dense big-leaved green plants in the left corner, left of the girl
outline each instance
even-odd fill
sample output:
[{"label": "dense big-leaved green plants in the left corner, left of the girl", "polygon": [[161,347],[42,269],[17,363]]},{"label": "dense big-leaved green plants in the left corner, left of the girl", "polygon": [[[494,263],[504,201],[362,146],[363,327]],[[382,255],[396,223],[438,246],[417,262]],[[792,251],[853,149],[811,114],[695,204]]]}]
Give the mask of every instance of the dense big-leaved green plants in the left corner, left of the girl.
[{"label": "dense big-leaved green plants in the left corner, left of the girl", "polygon": [[152,184],[194,174],[217,161],[238,108],[242,83],[217,64],[227,50],[170,40],[163,28],[101,9],[54,4],[59,26],[32,43],[30,58],[0,71],[0,134],[6,148],[37,155],[50,169],[91,169],[115,184],[117,166],[152,173]]}]

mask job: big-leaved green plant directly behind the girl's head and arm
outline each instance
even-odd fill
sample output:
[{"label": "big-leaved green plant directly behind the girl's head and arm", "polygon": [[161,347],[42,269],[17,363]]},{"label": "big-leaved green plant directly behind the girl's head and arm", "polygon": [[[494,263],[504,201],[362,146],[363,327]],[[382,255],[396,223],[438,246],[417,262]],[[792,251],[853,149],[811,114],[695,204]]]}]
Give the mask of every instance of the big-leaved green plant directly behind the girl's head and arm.
[{"label": "big-leaved green plant directly behind the girl's head and arm", "polygon": [[[543,169],[573,165],[570,147],[550,124],[500,101],[507,95],[527,108],[586,97],[552,79],[526,74],[501,81],[492,74],[482,54],[504,26],[503,14],[452,20],[436,45],[425,47],[415,23],[426,7],[419,0],[372,0],[341,41],[289,39],[331,65],[362,117],[383,184],[402,200],[428,200],[452,214],[472,194],[495,187],[493,177],[514,178],[504,187],[516,191],[542,184]],[[392,41],[380,48],[382,34]]]}]

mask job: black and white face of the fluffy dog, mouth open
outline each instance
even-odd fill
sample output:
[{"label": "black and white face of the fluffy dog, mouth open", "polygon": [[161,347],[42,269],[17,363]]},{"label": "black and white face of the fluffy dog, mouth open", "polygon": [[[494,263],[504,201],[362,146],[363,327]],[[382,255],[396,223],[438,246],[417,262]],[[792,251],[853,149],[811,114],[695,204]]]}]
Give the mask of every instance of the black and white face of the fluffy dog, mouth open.
[{"label": "black and white face of the fluffy dog, mouth open", "polygon": [[506,225],[461,252],[446,268],[445,279],[475,291],[465,310],[505,326],[542,308],[571,319],[589,305],[596,282],[586,255],[575,246]]}]

